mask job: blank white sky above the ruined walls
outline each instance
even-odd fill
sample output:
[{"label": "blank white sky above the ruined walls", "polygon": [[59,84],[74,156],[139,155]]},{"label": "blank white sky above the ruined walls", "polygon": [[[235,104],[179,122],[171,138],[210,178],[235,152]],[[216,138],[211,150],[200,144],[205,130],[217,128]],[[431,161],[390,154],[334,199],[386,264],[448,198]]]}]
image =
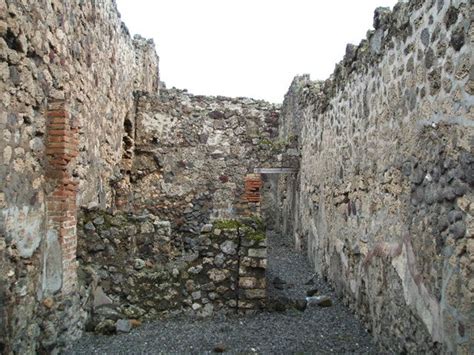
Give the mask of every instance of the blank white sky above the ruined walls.
[{"label": "blank white sky above the ruined walls", "polygon": [[396,0],[116,0],[153,38],[168,88],[282,102],[293,77],[326,79]]}]

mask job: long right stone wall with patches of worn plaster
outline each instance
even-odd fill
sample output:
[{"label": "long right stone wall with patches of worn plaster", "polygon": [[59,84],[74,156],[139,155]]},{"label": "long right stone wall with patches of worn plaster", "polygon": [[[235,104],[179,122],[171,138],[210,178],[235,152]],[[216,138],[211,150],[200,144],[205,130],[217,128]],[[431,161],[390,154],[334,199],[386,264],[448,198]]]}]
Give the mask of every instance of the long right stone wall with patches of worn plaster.
[{"label": "long right stone wall with patches of worn plaster", "polygon": [[280,181],[283,228],[388,351],[472,352],[472,13],[379,9],[334,75],[296,78],[282,108],[302,154]]}]

